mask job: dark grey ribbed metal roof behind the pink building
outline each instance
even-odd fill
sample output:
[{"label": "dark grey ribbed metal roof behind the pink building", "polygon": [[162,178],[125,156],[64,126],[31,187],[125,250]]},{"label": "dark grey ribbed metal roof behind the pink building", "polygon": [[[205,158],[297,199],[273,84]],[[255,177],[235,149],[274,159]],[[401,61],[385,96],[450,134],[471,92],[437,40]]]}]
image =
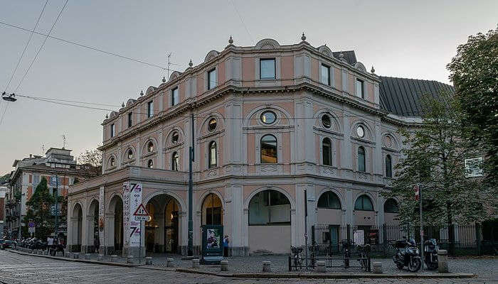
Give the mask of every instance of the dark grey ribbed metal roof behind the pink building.
[{"label": "dark grey ribbed metal roof behind the pink building", "polygon": [[399,116],[422,116],[420,97],[430,94],[440,98],[440,92],[455,93],[449,84],[437,81],[381,76],[379,86],[381,109]]}]

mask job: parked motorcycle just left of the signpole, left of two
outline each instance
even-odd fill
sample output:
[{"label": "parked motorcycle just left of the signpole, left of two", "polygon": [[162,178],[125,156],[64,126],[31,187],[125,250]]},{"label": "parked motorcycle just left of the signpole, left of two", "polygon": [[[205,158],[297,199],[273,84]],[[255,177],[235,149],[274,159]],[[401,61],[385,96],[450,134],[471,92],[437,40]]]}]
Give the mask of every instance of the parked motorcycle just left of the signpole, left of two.
[{"label": "parked motorcycle just left of the signpole, left of two", "polygon": [[396,255],[393,256],[393,261],[398,269],[408,267],[408,271],[417,272],[422,266],[420,252],[414,239],[407,241],[406,239],[396,241],[394,244]]}]

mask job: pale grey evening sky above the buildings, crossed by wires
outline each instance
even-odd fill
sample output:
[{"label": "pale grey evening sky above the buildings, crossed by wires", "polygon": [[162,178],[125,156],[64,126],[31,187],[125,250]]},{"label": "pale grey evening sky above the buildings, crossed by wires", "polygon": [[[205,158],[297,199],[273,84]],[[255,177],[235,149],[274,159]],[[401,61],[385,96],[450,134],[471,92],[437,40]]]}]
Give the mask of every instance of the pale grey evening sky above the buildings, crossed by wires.
[{"label": "pale grey evening sky above the buildings, crossed by wires", "polygon": [[[40,33],[48,33],[65,0],[50,0]],[[0,21],[32,29],[45,0],[0,0]],[[235,7],[234,7],[235,6]],[[236,10],[235,10],[236,9]],[[240,17],[238,13],[240,13]],[[241,19],[242,18],[242,21]],[[183,71],[190,59],[202,62],[208,51],[254,45],[263,38],[299,43],[301,33],[315,47],[355,50],[378,75],[448,83],[445,65],[468,35],[497,26],[498,1],[77,1],[68,5],[52,35]],[[244,24],[245,23],[245,26]],[[16,67],[29,33],[0,24],[0,92]],[[42,35],[33,35],[7,92],[13,92]],[[164,72],[137,62],[49,38],[17,94],[115,104],[161,83]],[[0,102],[1,114],[8,103]],[[15,159],[40,155],[42,144],[66,148],[77,157],[102,143],[108,111],[65,107],[19,98],[9,103],[0,125],[0,175]]]}]

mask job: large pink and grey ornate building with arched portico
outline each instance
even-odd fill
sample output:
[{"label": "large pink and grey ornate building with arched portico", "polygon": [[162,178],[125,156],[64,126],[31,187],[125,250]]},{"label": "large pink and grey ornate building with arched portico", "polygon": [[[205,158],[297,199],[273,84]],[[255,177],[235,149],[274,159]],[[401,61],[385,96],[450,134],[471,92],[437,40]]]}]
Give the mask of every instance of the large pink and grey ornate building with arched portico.
[{"label": "large pink and grey ornate building with arched portico", "polygon": [[309,236],[314,224],[336,240],[346,224],[396,224],[396,200],[380,192],[398,162],[397,130],[420,125],[420,95],[441,88],[452,90],[379,77],[354,51],[314,48],[304,35],[294,45],[229,40],[105,119],[102,175],[70,187],[70,249],[138,255],[131,183],[152,217],[142,253],[185,254],[190,146],[196,252],[201,225],[223,224],[233,256],[288,253],[304,244],[305,202]]}]

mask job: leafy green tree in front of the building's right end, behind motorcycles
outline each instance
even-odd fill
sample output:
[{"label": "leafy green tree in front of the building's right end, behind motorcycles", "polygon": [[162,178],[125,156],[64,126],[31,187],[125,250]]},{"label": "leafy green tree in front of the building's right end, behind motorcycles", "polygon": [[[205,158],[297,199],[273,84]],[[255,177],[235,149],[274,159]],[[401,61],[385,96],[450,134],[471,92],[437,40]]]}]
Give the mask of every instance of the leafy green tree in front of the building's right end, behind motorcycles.
[{"label": "leafy green tree in front of the building's right end, behind motorcycles", "polygon": [[[403,150],[396,165],[396,180],[386,197],[396,197],[399,218],[403,224],[420,222],[418,201],[413,185],[423,190],[424,224],[452,226],[487,219],[492,210],[492,192],[482,187],[480,179],[466,178],[464,161],[477,149],[462,139],[460,105],[450,95],[441,93],[440,99],[423,96],[423,123],[420,128],[400,129]],[[454,236],[450,230],[450,241]],[[452,248],[450,248],[450,251]]]}]

